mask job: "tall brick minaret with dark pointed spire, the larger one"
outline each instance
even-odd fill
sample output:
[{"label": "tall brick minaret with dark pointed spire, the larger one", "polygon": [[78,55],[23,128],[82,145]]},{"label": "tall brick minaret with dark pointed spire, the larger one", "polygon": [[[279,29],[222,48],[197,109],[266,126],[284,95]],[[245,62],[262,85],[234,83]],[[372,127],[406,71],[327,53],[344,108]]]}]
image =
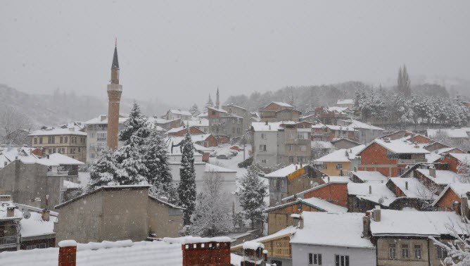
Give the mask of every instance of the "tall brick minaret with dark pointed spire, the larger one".
[{"label": "tall brick minaret with dark pointed spire, the larger one", "polygon": [[111,83],[108,84],[108,148],[118,148],[119,103],[122,85],[119,84],[118,40],[114,46],[113,64],[111,65]]}]

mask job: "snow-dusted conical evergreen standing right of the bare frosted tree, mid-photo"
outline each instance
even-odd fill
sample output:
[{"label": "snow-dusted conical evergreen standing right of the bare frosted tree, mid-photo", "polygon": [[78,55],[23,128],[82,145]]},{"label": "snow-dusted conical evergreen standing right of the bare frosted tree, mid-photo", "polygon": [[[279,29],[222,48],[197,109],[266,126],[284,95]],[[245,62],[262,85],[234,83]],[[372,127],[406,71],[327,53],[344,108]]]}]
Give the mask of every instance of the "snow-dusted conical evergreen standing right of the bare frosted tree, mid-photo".
[{"label": "snow-dusted conical evergreen standing right of the bare frosted tree, mid-photo", "polygon": [[248,171],[240,182],[240,205],[243,215],[251,220],[253,228],[260,226],[262,222],[262,210],[265,208],[264,198],[267,196],[267,186],[259,177],[256,165],[250,165]]}]

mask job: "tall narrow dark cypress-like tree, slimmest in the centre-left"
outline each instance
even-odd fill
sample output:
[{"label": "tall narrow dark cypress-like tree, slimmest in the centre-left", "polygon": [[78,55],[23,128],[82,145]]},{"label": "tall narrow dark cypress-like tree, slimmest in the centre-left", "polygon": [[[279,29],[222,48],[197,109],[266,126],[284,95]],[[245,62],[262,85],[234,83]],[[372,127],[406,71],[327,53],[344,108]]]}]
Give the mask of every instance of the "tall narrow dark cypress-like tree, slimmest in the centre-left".
[{"label": "tall narrow dark cypress-like tree, slimmest in the centre-left", "polygon": [[184,225],[191,225],[196,201],[196,173],[194,172],[194,146],[191,134],[186,127],[186,135],[183,140],[181,167],[179,168],[180,181],[178,184],[179,204],[184,210]]}]

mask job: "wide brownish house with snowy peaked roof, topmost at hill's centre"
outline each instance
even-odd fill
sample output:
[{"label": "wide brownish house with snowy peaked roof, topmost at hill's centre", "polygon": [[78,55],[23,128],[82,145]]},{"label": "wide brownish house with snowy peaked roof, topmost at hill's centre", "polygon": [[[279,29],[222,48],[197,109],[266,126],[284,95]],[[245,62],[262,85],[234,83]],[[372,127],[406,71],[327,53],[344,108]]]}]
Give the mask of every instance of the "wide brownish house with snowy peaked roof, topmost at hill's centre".
[{"label": "wide brownish house with snowy peaked roof, topmost at hill's centre", "polygon": [[288,103],[272,101],[263,106],[259,110],[262,122],[280,122],[280,121],[296,121],[300,120],[302,113],[296,110]]}]

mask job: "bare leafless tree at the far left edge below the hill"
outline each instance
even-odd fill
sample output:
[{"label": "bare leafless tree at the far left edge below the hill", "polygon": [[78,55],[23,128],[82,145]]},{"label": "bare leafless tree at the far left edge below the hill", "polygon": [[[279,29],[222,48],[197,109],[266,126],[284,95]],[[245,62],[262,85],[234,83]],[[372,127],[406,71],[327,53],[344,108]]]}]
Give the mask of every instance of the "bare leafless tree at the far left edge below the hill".
[{"label": "bare leafless tree at the far left edge below the hill", "polygon": [[27,144],[30,119],[19,110],[8,106],[0,110],[0,134],[4,144]]}]

